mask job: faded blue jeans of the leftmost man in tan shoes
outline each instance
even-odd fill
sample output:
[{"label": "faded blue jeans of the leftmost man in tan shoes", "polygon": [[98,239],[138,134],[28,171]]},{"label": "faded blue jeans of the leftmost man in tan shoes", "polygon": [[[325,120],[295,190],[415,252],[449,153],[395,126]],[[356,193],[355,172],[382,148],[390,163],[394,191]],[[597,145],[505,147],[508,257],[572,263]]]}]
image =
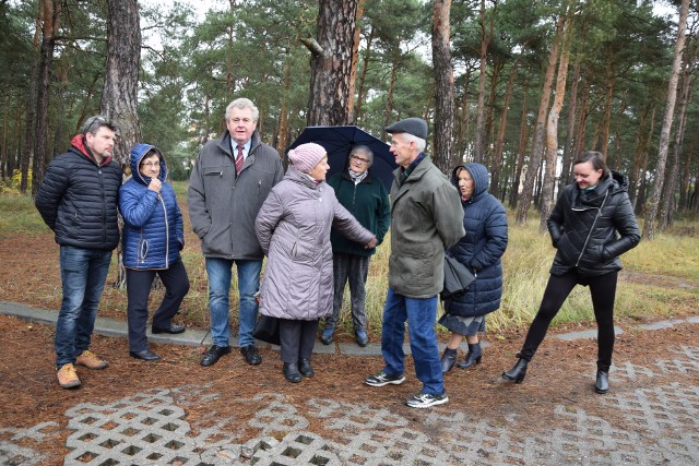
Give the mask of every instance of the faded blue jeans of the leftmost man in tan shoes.
[{"label": "faded blue jeans of the leftmost man in tan shoes", "polygon": [[63,300],[56,322],[56,367],[74,363],[90,348],[111,251],[60,247]]}]

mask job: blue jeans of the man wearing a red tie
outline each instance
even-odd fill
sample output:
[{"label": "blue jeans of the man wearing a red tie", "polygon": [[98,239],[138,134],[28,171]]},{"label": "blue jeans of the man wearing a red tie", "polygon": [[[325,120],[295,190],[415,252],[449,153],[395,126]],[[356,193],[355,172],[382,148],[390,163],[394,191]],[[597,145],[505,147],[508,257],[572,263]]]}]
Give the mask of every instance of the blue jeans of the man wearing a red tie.
[{"label": "blue jeans of the man wearing a red tie", "polygon": [[241,347],[254,344],[252,328],[258,320],[258,300],[254,294],[260,289],[262,261],[206,258],[211,336],[216,346],[228,346],[230,340],[228,294],[230,292],[234,262],[238,267],[238,296],[240,298],[238,343]]}]

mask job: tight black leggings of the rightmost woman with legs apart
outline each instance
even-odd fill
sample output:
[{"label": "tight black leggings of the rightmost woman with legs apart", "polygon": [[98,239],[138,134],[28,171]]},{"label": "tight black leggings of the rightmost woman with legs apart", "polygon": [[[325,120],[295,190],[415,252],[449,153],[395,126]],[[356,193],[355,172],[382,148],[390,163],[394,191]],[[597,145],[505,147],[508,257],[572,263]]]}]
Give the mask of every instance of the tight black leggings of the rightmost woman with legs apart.
[{"label": "tight black leggings of the rightmost woman with legs apart", "polygon": [[541,345],[550,321],[554,320],[576,285],[590,287],[594,319],[597,321],[597,370],[607,372],[614,350],[614,298],[618,272],[595,277],[582,277],[574,270],[561,276],[550,275],[542,304],[529,327],[520,357],[530,361]]}]

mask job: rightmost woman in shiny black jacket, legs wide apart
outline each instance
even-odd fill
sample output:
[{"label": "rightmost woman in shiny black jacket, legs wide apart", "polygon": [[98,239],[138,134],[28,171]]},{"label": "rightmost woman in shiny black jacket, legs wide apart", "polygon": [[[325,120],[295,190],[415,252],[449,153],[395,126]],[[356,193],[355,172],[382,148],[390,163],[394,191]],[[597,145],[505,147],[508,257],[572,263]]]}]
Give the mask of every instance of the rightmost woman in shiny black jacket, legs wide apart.
[{"label": "rightmost woman in shiny black jacket, legs wide apart", "polygon": [[557,249],[541,307],[526,334],[519,361],[502,373],[520,383],[526,366],[544,339],[548,325],[576,285],[590,287],[597,321],[595,391],[609,390],[614,349],[614,298],[619,255],[635,248],[641,235],[627,193],[628,178],[607,168],[599,152],[585,152],[573,164],[576,181],[567,186],[548,217]]}]

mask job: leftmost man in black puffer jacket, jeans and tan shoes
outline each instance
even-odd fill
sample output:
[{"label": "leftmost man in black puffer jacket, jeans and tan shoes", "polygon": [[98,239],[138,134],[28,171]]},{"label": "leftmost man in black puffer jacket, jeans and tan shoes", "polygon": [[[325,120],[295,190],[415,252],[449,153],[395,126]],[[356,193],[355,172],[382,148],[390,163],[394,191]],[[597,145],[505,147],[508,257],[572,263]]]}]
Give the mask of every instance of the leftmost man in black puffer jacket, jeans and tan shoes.
[{"label": "leftmost man in black puffer jacket, jeans and tan shoes", "polygon": [[36,193],[36,208],[60,246],[63,300],[55,346],[63,389],[80,385],[75,363],[90,369],[108,365],[88,348],[111,251],[119,243],[121,168],[111,159],[115,132],[103,117],[87,119],[68,152],[54,158]]}]

